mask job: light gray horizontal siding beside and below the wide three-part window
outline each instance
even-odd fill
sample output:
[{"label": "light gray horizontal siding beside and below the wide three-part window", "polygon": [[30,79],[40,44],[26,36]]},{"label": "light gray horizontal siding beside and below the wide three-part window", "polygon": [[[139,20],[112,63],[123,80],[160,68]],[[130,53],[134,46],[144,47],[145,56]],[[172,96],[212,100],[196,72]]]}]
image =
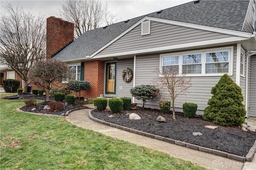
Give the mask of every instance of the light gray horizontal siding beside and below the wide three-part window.
[{"label": "light gray horizontal siding beside and below the wide three-part window", "polygon": [[[236,61],[236,46],[234,46],[234,61]],[[159,65],[160,54],[137,55],[135,85],[154,85],[154,81],[156,81],[159,76],[154,72],[154,70],[159,68]],[[236,62],[234,62],[233,68],[235,68],[235,65]],[[235,74],[230,77],[233,81],[235,81]],[[212,97],[211,89],[218,83],[220,78],[221,76],[191,77],[191,87],[188,89],[186,95],[180,96],[176,100],[176,108],[182,108],[185,101],[193,102],[198,105],[198,110],[201,111],[200,114],[202,114],[202,111],[204,111],[205,107],[208,106],[208,100]],[[168,99],[167,95],[167,92],[161,91],[160,97],[158,97],[155,101],[147,101],[146,107],[158,107],[158,103],[161,99],[170,100]],[[135,103],[141,104],[141,101],[135,100]]]}]

